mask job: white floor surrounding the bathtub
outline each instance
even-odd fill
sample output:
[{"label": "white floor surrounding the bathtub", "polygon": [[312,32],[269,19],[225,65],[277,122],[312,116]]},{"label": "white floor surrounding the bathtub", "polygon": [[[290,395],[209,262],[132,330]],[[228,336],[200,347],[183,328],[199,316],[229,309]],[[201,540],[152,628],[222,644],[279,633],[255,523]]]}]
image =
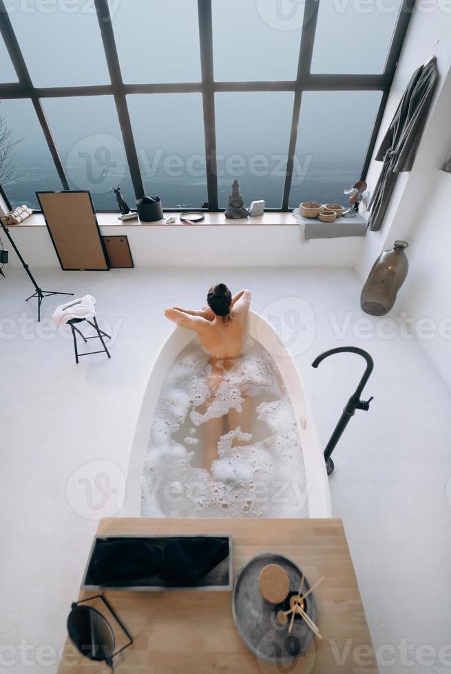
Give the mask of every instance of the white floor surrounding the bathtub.
[{"label": "white floor surrounding the bathtub", "polygon": [[[71,507],[67,482],[93,460],[127,470],[149,365],[171,329],[162,311],[204,303],[216,281],[250,287],[256,311],[288,316],[291,326],[291,307],[306,316],[305,302],[313,307],[315,325],[306,321],[294,349],[324,444],[364,362],[334,356],[314,370],[311,361],[337,345],[373,354],[364,397],[375,400],[369,413],[356,413],[334,455],[333,514],[344,519],[381,671],[450,671],[451,395],[417,342],[372,334],[378,321],[368,322],[359,309],[354,272],[39,270],[43,288],[94,294],[105,329],[114,331],[112,360],[89,356],[78,366],[70,340],[48,320],[36,325],[34,306],[24,302],[32,289],[23,270],[6,274],[0,278],[0,671],[56,671],[54,654],[65,640],[65,618],[96,530],[96,521]],[[46,299],[43,315],[57,303]]]}]

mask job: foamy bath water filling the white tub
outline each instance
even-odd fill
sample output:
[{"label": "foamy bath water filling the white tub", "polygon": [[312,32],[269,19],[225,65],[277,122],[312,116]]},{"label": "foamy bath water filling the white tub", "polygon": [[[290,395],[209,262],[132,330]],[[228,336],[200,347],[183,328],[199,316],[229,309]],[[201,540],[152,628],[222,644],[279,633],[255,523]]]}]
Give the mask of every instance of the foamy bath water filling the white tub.
[{"label": "foamy bath water filling the white tub", "polygon": [[193,340],[169,369],[145,454],[141,515],[308,517],[293,405],[251,337],[242,356],[224,360]]}]

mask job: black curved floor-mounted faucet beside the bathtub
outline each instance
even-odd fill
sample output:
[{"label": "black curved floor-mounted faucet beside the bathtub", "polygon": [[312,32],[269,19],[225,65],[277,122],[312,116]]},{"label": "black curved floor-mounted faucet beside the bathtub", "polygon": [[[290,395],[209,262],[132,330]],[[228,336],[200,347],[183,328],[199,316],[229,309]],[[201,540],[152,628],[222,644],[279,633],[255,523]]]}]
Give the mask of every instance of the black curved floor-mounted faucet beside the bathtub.
[{"label": "black curved floor-mounted faucet beside the bathtub", "polygon": [[342,416],[339,418],[337,426],[335,426],[335,431],[332,433],[331,439],[327,443],[326,449],[324,450],[324,459],[326,461],[328,475],[332,475],[334,469],[331,454],[333,453],[333,450],[335,449],[335,446],[337,445],[340,437],[342,437],[342,433],[348,425],[350,417],[355,415],[356,409],[363,409],[365,412],[368,412],[370,409],[370,402],[373,400],[373,395],[371,396],[370,400],[360,400],[360,396],[364,390],[365,384],[368,382],[370,374],[373,372],[374,362],[370,354],[368,354],[367,351],[364,351],[364,349],[358,349],[357,347],[337,347],[336,349],[324,351],[324,354],[319,354],[319,356],[317,356],[317,358],[315,358],[313,361],[312,367],[318,367],[319,363],[322,362],[324,358],[328,358],[328,356],[333,356],[334,354],[358,354],[362,358],[365,358],[366,370],[364,371],[364,376],[361,378],[357,389],[355,389],[353,395],[351,395],[348,402],[346,403]]}]

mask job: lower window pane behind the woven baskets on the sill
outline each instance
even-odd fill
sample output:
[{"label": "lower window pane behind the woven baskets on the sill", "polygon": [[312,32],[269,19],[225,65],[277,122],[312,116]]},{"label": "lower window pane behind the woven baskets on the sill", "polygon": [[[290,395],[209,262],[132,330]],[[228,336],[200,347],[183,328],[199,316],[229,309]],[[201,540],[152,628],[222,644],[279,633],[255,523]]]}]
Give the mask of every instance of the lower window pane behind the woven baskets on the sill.
[{"label": "lower window pane behind the woven baskets on the sill", "polygon": [[300,202],[346,205],[360,178],[381,91],[304,91],[290,208]]}]

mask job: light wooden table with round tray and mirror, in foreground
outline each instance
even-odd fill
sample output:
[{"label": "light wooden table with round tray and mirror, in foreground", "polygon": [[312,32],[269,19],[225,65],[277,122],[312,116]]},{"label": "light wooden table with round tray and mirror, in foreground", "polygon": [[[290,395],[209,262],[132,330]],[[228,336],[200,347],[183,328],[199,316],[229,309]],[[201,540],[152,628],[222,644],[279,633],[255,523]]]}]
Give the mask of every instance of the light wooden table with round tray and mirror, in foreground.
[{"label": "light wooden table with round tray and mirror, in foreground", "polygon": [[[306,655],[291,666],[257,660],[233,623],[227,591],[131,592],[105,595],[134,643],[116,661],[115,671],[130,674],[375,674],[377,665],[364,607],[342,521],[339,519],[103,519],[98,534],[231,534],[233,573],[260,552],[279,552],[297,563],[315,591],[318,628]],[[81,592],[79,599],[96,594]],[[110,621],[112,622],[112,621]],[[125,643],[118,635],[118,644]],[[105,663],[91,663],[67,642],[59,674],[99,674]]]}]

